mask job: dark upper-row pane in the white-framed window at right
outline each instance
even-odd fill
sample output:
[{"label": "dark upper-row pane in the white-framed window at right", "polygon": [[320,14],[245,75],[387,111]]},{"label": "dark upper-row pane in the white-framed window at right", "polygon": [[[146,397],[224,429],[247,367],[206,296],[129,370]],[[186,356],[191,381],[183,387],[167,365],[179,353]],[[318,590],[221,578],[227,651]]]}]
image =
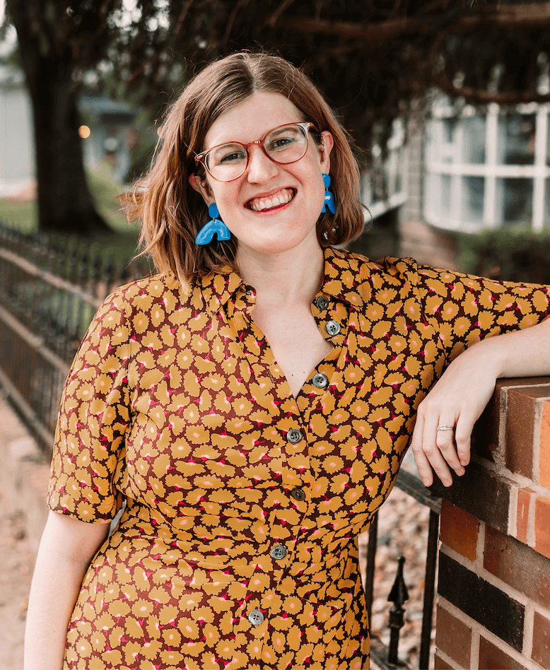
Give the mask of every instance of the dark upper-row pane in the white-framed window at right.
[{"label": "dark upper-row pane in the white-framed window at right", "polygon": [[534,164],[534,114],[498,117],[497,161],[501,165]]}]

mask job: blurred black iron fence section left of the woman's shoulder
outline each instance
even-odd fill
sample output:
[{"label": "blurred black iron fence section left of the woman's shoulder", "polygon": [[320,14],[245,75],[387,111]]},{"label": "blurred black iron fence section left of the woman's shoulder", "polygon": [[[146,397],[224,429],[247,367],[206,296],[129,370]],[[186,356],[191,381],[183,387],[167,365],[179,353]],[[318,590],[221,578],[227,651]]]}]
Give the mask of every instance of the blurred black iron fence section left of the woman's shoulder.
[{"label": "blurred black iron fence section left of the woman's shoulder", "polygon": [[110,290],[149,272],[146,259],[117,261],[81,238],[23,235],[0,224],[0,382],[46,452],[93,315]]}]

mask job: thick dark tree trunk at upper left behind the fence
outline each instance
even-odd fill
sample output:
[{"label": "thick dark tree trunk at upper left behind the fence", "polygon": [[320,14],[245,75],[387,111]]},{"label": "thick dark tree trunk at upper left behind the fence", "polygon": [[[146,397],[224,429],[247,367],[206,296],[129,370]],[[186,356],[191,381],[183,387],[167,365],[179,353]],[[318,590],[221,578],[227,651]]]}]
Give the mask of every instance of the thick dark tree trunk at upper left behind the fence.
[{"label": "thick dark tree trunk at upper left behind the fence", "polygon": [[50,35],[37,40],[37,23],[33,34],[25,16],[28,4],[33,3],[8,0],[33,107],[38,226],[77,235],[110,233],[86,183],[70,50],[59,54]]}]

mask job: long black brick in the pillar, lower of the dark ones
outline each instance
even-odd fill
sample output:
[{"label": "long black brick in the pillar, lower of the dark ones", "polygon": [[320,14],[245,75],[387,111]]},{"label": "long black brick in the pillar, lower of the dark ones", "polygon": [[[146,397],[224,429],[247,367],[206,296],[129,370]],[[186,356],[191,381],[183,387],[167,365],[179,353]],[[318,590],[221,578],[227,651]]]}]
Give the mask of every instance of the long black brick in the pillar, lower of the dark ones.
[{"label": "long black brick in the pillar, lower of the dark ones", "polygon": [[510,647],[521,651],[525,607],[445,553],[439,556],[438,593]]}]

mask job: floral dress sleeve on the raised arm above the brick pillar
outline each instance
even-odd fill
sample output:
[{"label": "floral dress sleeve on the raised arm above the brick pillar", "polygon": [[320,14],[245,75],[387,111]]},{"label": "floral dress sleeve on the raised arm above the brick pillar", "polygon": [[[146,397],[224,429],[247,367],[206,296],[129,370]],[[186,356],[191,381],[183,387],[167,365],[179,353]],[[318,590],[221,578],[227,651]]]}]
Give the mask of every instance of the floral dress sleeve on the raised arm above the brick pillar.
[{"label": "floral dress sleeve on the raised arm above the brick pillar", "polygon": [[550,288],[539,284],[419,266],[416,286],[423,316],[450,358],[481,339],[534,326],[550,315]]}]

